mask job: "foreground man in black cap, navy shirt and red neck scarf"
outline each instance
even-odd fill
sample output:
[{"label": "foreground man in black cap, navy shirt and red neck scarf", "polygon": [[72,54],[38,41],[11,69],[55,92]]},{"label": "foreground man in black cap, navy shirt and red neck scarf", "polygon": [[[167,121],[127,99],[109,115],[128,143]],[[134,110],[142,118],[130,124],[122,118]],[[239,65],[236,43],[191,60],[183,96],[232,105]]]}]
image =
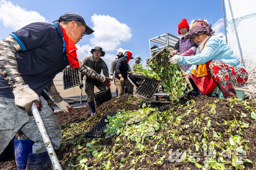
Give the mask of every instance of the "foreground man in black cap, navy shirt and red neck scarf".
[{"label": "foreground man in black cap, navy shirt and red neck scarf", "polygon": [[[50,169],[51,162],[31,113],[33,102],[55,149],[61,141],[61,127],[52,109],[41,96],[53,78],[70,65],[86,76],[104,82],[110,78],[97,74],[76,56],[75,44],[93,29],[75,13],[60,16],[58,23],[31,23],[0,41],[0,154],[19,129],[34,142],[23,169]],[[40,161],[35,161],[35,158]]]}]

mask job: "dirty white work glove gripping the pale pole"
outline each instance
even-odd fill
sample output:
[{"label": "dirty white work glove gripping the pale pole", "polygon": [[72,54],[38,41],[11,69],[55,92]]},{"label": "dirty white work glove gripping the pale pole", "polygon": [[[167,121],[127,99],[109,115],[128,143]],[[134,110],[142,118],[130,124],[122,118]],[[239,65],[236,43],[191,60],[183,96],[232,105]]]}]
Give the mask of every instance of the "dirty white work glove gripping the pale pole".
[{"label": "dirty white work glove gripping the pale pole", "polygon": [[34,90],[29,88],[28,85],[13,88],[12,92],[14,94],[15,104],[18,107],[25,109],[26,112],[31,112],[33,102],[35,102],[36,107],[39,107],[39,96]]}]

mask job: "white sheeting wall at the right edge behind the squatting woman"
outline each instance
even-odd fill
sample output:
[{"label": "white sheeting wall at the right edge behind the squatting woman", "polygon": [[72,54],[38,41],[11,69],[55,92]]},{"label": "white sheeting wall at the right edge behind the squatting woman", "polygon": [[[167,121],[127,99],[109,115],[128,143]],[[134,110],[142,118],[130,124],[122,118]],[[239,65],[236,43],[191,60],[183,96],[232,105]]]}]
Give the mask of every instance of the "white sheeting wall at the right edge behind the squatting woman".
[{"label": "white sheeting wall at the right edge behind the squatting woman", "polygon": [[[255,0],[225,0],[228,22],[227,39],[234,53],[246,67],[248,80],[256,80],[256,3]],[[256,92],[256,84],[245,84]]]}]

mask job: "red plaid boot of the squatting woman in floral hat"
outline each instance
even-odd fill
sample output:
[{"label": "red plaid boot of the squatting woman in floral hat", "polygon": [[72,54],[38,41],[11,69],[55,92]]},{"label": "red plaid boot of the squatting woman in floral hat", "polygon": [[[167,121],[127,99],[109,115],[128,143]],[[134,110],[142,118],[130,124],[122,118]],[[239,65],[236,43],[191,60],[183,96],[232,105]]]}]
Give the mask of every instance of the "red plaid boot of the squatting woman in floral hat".
[{"label": "red plaid boot of the squatting woman in floral hat", "polygon": [[230,99],[232,97],[236,97],[236,90],[231,78],[219,81],[218,86],[223,93],[223,98]]}]

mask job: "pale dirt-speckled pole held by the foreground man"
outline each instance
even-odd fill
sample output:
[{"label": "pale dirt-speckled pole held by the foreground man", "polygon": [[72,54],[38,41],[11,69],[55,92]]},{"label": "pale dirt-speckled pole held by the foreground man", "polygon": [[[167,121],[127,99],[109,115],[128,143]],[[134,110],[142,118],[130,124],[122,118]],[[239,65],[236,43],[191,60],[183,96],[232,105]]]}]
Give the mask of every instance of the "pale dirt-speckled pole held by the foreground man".
[{"label": "pale dirt-speckled pole held by the foreground man", "polygon": [[48,155],[51,159],[52,166],[53,166],[54,170],[62,170],[62,168],[60,166],[60,162],[59,162],[59,160],[57,158],[57,155],[54,151],[54,147],[52,146],[52,142],[50,140],[50,137],[49,137],[49,135],[46,131],[46,128],[44,126],[44,122],[41,118],[41,115],[40,115],[35,103],[33,103],[31,109],[32,109],[34,119],[36,120],[36,125],[38,126],[40,134],[43,138],[44,146],[46,147]]}]

